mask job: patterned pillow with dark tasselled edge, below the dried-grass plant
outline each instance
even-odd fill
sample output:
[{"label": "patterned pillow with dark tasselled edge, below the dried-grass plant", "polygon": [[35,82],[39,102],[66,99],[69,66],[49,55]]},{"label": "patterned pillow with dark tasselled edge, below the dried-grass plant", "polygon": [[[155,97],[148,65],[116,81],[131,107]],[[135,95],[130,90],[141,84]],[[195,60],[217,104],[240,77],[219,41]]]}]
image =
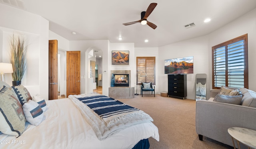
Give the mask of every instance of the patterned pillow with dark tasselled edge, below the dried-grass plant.
[{"label": "patterned pillow with dark tasselled edge, below the dried-grass plant", "polygon": [[16,93],[16,95],[18,96],[18,99],[22,106],[24,103],[28,102],[28,100],[32,99],[27,88],[25,88],[23,85],[12,86],[12,88],[13,88],[14,92]]}]

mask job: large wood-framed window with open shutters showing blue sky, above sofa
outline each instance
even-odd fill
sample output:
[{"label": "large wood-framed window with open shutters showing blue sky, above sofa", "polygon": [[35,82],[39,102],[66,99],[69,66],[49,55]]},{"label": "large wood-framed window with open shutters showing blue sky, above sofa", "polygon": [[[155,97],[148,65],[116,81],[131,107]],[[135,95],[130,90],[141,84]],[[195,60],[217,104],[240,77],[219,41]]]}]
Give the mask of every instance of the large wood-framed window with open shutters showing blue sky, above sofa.
[{"label": "large wood-framed window with open shutters showing blue sky, above sofa", "polygon": [[212,47],[212,88],[248,88],[247,34]]}]

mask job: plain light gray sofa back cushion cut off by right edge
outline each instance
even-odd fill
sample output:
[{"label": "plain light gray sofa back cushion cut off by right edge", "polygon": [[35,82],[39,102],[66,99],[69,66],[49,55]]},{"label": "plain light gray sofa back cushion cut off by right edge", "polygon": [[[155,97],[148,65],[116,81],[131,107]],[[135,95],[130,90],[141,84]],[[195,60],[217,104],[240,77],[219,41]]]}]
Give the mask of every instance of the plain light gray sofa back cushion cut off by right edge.
[{"label": "plain light gray sofa back cushion cut off by right edge", "polygon": [[243,98],[241,105],[256,108],[256,92],[242,88]]}]

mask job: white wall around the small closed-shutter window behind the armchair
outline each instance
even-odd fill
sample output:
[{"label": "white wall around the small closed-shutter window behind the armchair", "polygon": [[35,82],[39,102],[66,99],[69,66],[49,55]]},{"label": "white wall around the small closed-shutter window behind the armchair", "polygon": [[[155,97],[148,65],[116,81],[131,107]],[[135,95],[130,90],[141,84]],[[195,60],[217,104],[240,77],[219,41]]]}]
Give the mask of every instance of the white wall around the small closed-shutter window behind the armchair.
[{"label": "white wall around the small closed-shutter window behind the armchair", "polygon": [[[160,74],[160,67],[159,67],[159,51],[158,51],[158,47],[151,47],[151,48],[146,48],[146,47],[140,47],[140,48],[135,48],[135,55],[134,55],[134,80],[136,83],[136,68],[137,68],[137,62],[136,62],[136,57],[156,57],[156,65],[155,65],[155,81],[156,81],[156,85],[155,85],[155,94],[160,94],[161,91],[165,91],[162,90],[161,86],[163,84],[163,82],[161,82],[159,74]],[[137,93],[140,94],[140,85],[136,86],[135,84],[135,92],[136,92],[136,88],[138,87]],[[168,89],[167,89],[168,90]],[[166,90],[166,91],[167,91]],[[149,94],[150,92],[145,92],[145,94]],[[143,93],[144,94],[144,93]]]}]

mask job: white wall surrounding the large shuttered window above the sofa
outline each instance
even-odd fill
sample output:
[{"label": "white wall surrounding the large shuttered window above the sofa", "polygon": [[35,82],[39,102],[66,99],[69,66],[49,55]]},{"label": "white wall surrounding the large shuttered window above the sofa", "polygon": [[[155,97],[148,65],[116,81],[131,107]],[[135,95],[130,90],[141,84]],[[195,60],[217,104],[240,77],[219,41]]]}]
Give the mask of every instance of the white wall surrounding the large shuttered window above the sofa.
[{"label": "white wall surrounding the large shuttered window above the sofa", "polygon": [[[244,16],[230,22],[229,24],[221,27],[220,29],[210,33],[209,47],[211,51],[212,46],[218,45],[230,39],[234,39],[241,35],[248,33],[248,80],[249,89],[256,91],[255,84],[255,57],[256,57],[256,9],[248,12]],[[212,59],[212,54],[208,54],[208,58]],[[212,61],[210,61],[209,72],[211,73]],[[212,77],[212,75],[210,76]],[[209,82],[212,88],[212,82]]]}]

